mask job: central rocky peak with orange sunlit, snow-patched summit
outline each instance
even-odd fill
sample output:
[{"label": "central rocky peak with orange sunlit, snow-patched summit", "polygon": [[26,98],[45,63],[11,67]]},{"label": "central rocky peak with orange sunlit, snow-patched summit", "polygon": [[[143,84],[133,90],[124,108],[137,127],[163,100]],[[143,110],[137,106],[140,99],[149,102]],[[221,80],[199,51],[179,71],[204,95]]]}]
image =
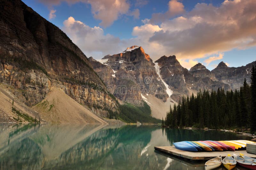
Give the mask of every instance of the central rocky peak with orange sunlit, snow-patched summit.
[{"label": "central rocky peak with orange sunlit, snow-patched summit", "polygon": [[122,101],[141,105],[148,94],[164,101],[168,98],[155,64],[142,47],[132,46],[101,60],[89,60],[109,91]]}]

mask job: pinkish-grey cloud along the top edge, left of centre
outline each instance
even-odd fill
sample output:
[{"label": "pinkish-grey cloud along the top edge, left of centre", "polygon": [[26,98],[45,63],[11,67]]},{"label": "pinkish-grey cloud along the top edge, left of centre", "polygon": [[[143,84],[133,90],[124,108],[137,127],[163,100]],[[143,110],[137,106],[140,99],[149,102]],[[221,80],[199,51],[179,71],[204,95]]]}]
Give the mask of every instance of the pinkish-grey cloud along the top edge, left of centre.
[{"label": "pinkish-grey cloud along the top edge, left of centre", "polygon": [[[53,5],[59,5],[61,2],[75,4],[78,2],[90,4],[92,15],[95,19],[101,20],[100,26],[108,27],[118,19],[120,15],[127,14],[130,9],[130,3],[127,0],[39,0],[49,8]],[[140,15],[138,10],[134,11],[134,18]]]}]

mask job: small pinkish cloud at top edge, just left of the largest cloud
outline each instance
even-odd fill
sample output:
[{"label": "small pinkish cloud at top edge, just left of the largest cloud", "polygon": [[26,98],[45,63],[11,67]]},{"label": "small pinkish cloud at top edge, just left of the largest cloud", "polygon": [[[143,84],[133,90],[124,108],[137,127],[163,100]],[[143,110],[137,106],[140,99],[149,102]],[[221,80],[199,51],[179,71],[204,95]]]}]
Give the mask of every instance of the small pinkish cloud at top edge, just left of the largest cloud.
[{"label": "small pinkish cloud at top edge, just left of the largest cloud", "polygon": [[165,13],[153,13],[150,23],[159,23],[183,12],[185,12],[184,5],[177,0],[171,0],[168,3],[168,11]]}]

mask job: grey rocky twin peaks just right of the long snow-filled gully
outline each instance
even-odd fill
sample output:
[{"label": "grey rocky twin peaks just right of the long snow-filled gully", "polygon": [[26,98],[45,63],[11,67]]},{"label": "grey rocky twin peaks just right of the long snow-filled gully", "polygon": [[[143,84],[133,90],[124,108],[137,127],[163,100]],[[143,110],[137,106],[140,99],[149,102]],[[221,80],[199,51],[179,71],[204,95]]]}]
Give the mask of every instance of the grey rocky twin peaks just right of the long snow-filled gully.
[{"label": "grey rocky twin peaks just right of the long snow-filled gully", "polygon": [[175,101],[179,101],[183,95],[191,95],[192,92],[196,94],[200,89],[230,89],[228,84],[218,81],[201,63],[188,71],[180,65],[176,56],[162,56],[155,62],[160,66],[162,79],[171,87],[171,97]]}]

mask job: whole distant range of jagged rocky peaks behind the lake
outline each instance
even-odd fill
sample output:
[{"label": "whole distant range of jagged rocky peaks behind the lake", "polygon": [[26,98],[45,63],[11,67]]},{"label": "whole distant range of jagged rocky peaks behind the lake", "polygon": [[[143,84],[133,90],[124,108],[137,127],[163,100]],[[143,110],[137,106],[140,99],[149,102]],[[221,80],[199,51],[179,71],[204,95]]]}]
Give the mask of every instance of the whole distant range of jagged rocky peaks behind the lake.
[{"label": "whole distant range of jagged rocky peaks behind the lake", "polygon": [[[164,104],[153,104],[149,100],[178,102],[182,96],[196,94],[200,89],[239,89],[244,78],[250,82],[251,68],[255,64],[252,62],[236,68],[220,62],[210,71],[198,63],[188,70],[180,65],[174,55],[162,56],[153,62],[144,49],[136,45],[122,53],[107,55],[101,60],[90,57],[89,61],[105,84],[111,86],[112,93],[118,99],[137,105],[143,100],[149,106],[158,104],[161,112]],[[127,91],[132,92],[126,93],[120,87],[127,87]],[[154,111],[157,112],[152,112]],[[160,118],[161,115],[155,116]]]}]

